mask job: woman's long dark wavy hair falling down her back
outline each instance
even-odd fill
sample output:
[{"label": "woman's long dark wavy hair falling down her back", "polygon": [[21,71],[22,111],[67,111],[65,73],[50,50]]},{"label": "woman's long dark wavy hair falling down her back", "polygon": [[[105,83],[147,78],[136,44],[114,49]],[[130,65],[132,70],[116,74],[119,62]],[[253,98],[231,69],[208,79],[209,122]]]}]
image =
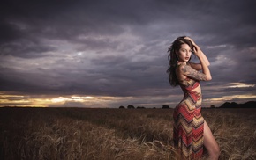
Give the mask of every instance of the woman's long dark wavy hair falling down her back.
[{"label": "woman's long dark wavy hair falling down her back", "polygon": [[167,69],[167,73],[169,73],[169,84],[171,86],[179,85],[177,76],[176,76],[176,67],[177,67],[177,52],[180,49],[181,45],[187,44],[189,47],[193,48],[191,40],[184,39],[186,36],[178,37],[170,47],[168,47],[168,58],[169,58],[169,68]]}]

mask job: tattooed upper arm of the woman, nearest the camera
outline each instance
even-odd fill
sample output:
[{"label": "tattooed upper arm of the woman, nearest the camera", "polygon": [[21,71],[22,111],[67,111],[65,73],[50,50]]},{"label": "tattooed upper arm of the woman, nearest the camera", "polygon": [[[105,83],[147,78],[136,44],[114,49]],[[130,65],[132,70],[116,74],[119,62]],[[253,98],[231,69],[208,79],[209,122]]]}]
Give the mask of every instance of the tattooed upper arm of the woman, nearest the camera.
[{"label": "tattooed upper arm of the woman, nearest the camera", "polygon": [[207,76],[200,71],[197,71],[196,69],[192,69],[192,67],[188,65],[184,65],[182,68],[182,71],[184,72],[185,76],[192,77],[193,79],[200,80],[200,81],[206,81]]}]

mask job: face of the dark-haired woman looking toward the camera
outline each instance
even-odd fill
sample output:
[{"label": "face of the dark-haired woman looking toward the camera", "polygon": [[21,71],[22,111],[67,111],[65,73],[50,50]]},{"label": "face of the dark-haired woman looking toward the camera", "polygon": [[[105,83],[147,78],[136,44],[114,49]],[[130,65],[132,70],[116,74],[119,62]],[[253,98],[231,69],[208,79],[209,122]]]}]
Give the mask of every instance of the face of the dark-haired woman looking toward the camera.
[{"label": "face of the dark-haired woman looking toward the camera", "polygon": [[189,62],[192,55],[192,49],[187,44],[182,44],[177,52],[179,62]]}]

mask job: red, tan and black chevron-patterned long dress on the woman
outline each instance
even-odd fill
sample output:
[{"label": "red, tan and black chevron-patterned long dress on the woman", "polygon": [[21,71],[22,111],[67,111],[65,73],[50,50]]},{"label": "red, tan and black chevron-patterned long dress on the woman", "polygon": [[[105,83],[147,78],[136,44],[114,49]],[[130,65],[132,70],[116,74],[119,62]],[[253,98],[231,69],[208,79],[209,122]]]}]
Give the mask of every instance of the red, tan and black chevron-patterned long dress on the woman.
[{"label": "red, tan and black chevron-patterned long dress on the woman", "polygon": [[180,84],[184,98],[173,113],[173,140],[180,159],[200,159],[203,154],[204,118],[200,113],[202,98],[200,92],[192,91],[199,85],[199,81],[190,78]]}]

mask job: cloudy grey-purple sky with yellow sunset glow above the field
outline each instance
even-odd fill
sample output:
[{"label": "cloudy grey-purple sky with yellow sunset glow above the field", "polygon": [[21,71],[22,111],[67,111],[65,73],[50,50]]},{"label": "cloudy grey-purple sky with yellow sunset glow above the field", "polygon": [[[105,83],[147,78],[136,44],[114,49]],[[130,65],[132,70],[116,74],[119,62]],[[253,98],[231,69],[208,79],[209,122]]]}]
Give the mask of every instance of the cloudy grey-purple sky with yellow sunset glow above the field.
[{"label": "cloudy grey-purple sky with yellow sunset glow above the field", "polygon": [[183,35],[211,63],[203,107],[254,101],[255,15],[253,0],[2,0],[0,106],[175,107],[167,49]]}]

